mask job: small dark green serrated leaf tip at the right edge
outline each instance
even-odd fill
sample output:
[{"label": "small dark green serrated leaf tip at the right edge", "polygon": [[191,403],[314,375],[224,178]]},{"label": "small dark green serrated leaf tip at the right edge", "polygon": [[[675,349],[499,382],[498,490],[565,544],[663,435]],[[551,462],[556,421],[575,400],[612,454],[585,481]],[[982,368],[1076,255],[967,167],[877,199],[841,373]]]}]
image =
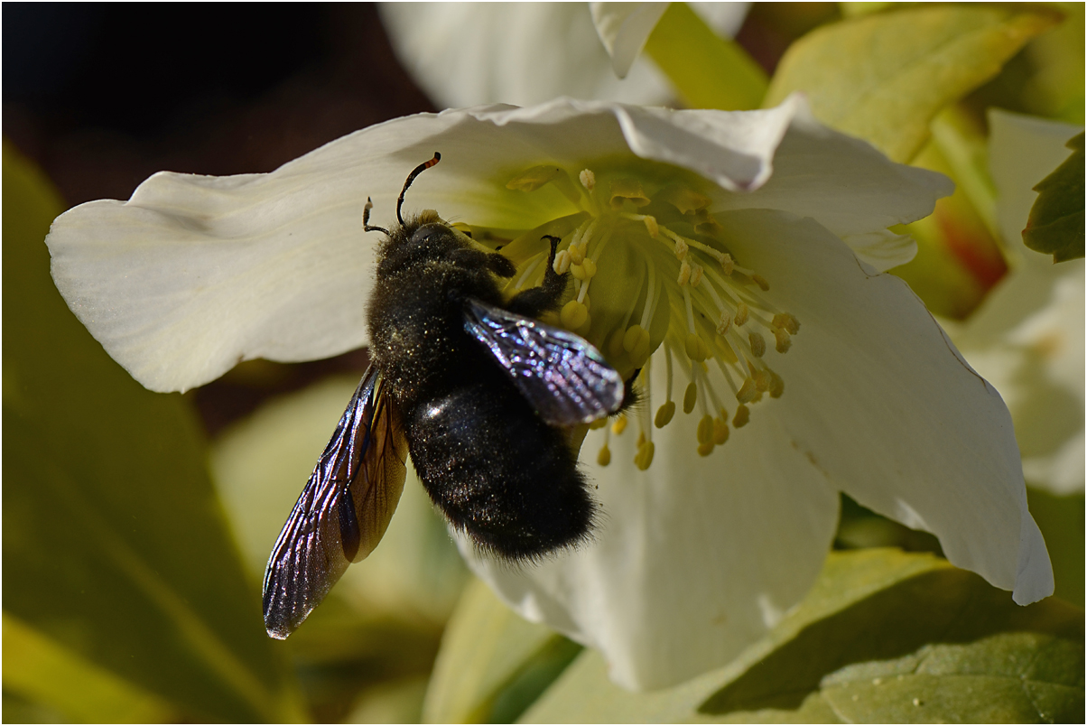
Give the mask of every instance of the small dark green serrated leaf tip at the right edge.
[{"label": "small dark green serrated leaf tip at the right edge", "polygon": [[1072,155],[1039,182],[1038,199],[1023,230],[1023,241],[1053,262],[1084,256],[1084,135],[1067,142]]}]

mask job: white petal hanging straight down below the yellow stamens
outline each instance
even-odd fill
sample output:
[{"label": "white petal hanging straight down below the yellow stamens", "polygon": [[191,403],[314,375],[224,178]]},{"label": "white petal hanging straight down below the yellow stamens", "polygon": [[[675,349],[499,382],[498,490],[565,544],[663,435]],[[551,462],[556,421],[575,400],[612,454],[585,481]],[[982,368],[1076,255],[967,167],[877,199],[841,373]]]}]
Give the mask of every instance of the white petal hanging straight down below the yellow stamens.
[{"label": "white petal hanging straight down below the yellow stamens", "polygon": [[648,472],[633,463],[636,431],[612,437],[608,467],[588,463],[602,440],[590,435],[583,465],[604,511],[590,546],[520,572],[462,552],[522,615],[603,652],[625,688],[722,665],[803,598],[837,522],[834,489],[780,428],[761,423],[702,459],[697,415],[680,412],[653,431]]}]

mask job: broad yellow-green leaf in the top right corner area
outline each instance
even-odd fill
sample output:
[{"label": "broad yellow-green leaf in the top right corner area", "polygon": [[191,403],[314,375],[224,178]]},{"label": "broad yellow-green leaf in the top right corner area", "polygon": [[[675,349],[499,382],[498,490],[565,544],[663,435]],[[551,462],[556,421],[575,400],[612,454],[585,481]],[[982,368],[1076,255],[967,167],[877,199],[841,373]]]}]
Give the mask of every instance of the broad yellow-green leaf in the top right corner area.
[{"label": "broad yellow-green leaf in the top right corner area", "polygon": [[845,20],[789,48],[763,105],[804,91],[820,121],[908,162],[940,109],[994,77],[1058,20],[1016,5],[944,4]]}]

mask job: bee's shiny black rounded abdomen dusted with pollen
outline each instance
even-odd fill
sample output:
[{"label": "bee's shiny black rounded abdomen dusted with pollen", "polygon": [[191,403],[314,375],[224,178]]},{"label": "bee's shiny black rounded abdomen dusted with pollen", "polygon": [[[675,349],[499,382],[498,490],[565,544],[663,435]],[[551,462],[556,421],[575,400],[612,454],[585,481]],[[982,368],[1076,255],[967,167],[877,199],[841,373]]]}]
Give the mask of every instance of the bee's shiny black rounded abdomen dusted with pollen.
[{"label": "bee's shiny black rounded abdomen dusted with pollen", "polygon": [[483,551],[535,560],[588,538],[596,503],[573,452],[507,381],[427,401],[405,430],[430,498]]}]

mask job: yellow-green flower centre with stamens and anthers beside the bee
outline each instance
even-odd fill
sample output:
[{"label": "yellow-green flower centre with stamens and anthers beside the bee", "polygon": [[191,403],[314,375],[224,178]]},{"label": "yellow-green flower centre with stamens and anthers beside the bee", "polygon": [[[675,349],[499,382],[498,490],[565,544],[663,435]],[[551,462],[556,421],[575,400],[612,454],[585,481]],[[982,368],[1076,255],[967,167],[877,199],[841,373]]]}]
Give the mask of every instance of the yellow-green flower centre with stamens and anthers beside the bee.
[{"label": "yellow-green flower centre with stamens and anthers beside the bee", "polygon": [[[517,265],[510,296],[541,284],[549,252],[541,237],[559,237],[554,266],[571,273],[573,286],[559,314],[545,320],[595,345],[624,379],[638,376],[642,404],[630,416],[639,428],[635,463],[649,467],[653,428],[675,415],[677,371],[687,380],[679,399],[684,413],[700,413],[697,451],[707,456],[728,439],[729,422],[746,425],[751,405],[782,395],[784,381],[767,363],[767,347],[784,354],[800,323],[771,301],[770,281],[734,256],[697,179],[639,178],[601,166],[583,170],[577,183],[559,166],[535,166],[507,184],[529,193],[553,185],[578,210],[573,214],[524,231],[457,226],[497,243]],[[655,414],[653,364],[666,373],[664,403]],[[735,401],[732,413],[722,385]],[[607,420],[591,425],[604,429],[601,465],[611,461],[610,437],[626,429],[627,417],[621,414],[608,428]]]}]

